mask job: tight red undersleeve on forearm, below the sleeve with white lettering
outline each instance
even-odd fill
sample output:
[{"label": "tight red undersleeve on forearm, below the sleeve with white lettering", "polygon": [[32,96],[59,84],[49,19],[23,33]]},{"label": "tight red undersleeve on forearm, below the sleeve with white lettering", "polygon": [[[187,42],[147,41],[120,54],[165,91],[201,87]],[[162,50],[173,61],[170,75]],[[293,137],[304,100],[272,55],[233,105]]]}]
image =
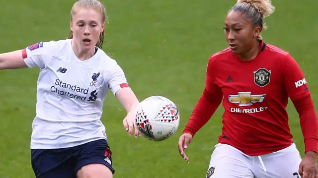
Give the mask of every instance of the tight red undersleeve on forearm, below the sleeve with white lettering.
[{"label": "tight red undersleeve on forearm, below the sleeve with white lettering", "polygon": [[300,116],[305,152],[314,151],[318,153],[318,123],[313,100],[311,96],[307,96],[300,100],[293,101],[293,103]]}]

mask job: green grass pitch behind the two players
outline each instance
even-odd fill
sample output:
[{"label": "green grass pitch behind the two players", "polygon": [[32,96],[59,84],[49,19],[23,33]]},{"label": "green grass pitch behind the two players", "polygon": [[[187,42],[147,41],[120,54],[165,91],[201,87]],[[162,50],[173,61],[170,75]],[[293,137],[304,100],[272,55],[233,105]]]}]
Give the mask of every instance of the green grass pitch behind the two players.
[{"label": "green grass pitch behind the two players", "polygon": [[[0,53],[69,34],[75,0],[1,0]],[[197,133],[187,150],[177,140],[205,80],[209,56],[227,47],[223,22],[236,0],[102,0],[108,21],[103,50],[124,69],[140,100],[166,96],[180,110],[181,122],[171,138],[153,142],[129,137],[122,125],[125,111],[110,94],[102,121],[113,152],[115,178],[204,178],[213,146],[221,133],[223,108]],[[289,51],[302,67],[318,102],[315,46],[318,1],[275,0],[265,42]],[[0,178],[34,178],[30,164],[31,123],[35,116],[39,69],[0,71]],[[299,117],[290,103],[290,127],[303,155]]]}]

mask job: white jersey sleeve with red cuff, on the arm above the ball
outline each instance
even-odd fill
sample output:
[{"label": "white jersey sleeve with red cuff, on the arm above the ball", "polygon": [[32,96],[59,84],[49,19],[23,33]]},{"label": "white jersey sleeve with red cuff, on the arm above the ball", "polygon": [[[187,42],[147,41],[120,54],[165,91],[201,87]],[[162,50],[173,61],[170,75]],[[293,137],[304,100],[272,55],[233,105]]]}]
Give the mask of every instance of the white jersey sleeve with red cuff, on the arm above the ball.
[{"label": "white jersey sleeve with red cuff, on the arm above the ball", "polygon": [[115,95],[118,90],[126,87],[129,87],[129,85],[125,73],[123,69],[116,63],[115,67],[110,72],[108,88]]}]

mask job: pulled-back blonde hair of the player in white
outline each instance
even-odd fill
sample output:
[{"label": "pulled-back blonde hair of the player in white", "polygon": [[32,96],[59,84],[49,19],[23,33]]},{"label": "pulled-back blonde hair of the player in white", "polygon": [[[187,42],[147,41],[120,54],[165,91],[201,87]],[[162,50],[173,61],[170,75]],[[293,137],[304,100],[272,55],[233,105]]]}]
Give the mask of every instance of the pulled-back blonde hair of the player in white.
[{"label": "pulled-back blonde hair of the player in white", "polygon": [[[96,11],[101,13],[102,23],[104,23],[106,21],[106,18],[107,18],[106,17],[106,9],[105,9],[104,5],[99,0],[78,0],[77,2],[75,2],[75,4],[72,7],[72,10],[71,10],[71,21],[72,21],[73,15],[76,13],[76,10],[79,7],[95,9]],[[73,38],[73,31],[71,31],[68,38],[69,39]],[[99,39],[98,39],[98,42],[96,44],[96,47],[101,49],[103,47],[103,42],[104,42],[104,30],[99,35]]]}]

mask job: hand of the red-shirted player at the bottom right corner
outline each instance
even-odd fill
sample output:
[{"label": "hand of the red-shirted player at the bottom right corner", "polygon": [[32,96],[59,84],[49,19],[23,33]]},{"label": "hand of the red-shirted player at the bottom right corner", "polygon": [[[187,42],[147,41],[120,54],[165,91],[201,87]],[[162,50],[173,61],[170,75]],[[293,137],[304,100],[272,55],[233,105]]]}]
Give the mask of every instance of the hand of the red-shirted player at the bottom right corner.
[{"label": "hand of the red-shirted player at the bottom right corner", "polygon": [[299,165],[299,174],[302,178],[318,178],[317,153],[313,151],[306,152]]}]

